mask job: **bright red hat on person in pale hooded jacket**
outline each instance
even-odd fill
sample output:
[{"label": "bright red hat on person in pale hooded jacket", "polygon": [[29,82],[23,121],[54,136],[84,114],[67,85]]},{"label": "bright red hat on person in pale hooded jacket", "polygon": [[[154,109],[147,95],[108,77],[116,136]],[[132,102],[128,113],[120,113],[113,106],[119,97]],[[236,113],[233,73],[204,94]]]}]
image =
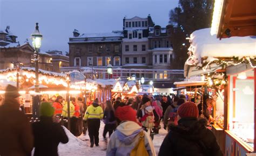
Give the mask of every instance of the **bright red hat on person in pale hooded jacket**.
[{"label": "bright red hat on person in pale hooded jacket", "polygon": [[131,106],[117,107],[116,117],[121,121],[134,121],[137,123],[136,111]]}]

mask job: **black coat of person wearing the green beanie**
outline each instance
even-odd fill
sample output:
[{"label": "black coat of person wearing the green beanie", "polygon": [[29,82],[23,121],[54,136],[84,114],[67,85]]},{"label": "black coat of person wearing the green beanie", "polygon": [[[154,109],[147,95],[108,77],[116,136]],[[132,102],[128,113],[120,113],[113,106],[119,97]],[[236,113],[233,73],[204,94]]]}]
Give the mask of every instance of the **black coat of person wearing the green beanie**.
[{"label": "black coat of person wearing the green beanie", "polygon": [[35,138],[34,156],[58,156],[59,143],[66,144],[69,141],[60,124],[53,123],[51,117],[40,117],[40,121],[32,124]]}]

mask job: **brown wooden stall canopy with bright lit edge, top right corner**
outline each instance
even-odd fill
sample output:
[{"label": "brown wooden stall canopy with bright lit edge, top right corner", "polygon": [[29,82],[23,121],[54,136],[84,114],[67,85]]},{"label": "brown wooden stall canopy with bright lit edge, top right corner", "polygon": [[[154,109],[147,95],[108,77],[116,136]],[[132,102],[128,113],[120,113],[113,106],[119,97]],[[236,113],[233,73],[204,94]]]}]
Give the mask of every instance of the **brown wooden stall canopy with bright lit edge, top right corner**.
[{"label": "brown wooden stall canopy with bright lit edge, top right corner", "polygon": [[214,4],[212,34],[218,38],[256,35],[256,1],[218,0]]}]

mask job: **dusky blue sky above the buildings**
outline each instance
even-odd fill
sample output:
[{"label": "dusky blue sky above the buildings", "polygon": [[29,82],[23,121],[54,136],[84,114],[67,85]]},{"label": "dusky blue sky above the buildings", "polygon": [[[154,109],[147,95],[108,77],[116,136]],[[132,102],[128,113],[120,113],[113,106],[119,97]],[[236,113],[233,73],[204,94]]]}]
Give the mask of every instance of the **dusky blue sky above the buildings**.
[{"label": "dusky blue sky above the buildings", "polygon": [[[80,33],[123,29],[123,18],[147,17],[166,26],[178,0],[0,0],[0,29],[10,30],[23,44],[39,23],[41,50],[69,51],[74,29]],[[30,40],[31,42],[31,40]]]}]

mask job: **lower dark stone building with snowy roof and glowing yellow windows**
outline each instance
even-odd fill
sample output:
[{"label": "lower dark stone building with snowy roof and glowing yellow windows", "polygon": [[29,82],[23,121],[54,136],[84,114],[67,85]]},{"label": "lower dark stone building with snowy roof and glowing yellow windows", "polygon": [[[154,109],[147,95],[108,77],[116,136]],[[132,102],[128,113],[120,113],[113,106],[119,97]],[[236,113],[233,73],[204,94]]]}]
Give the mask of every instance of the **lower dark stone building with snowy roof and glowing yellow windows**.
[{"label": "lower dark stone building with snowy roof and glowing yellow windows", "polygon": [[111,33],[80,33],[69,38],[70,66],[106,67],[122,65],[122,31]]}]

